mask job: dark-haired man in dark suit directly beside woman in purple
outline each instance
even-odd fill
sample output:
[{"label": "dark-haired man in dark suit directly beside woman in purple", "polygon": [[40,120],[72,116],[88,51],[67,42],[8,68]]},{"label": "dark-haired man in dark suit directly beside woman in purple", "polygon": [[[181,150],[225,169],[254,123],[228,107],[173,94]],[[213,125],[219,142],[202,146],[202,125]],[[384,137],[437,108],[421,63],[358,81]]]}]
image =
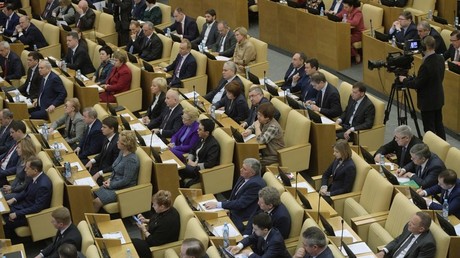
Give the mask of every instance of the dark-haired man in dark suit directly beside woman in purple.
[{"label": "dark-haired man in dark suit directly beside woman in purple", "polygon": [[[201,119],[198,126],[200,141],[190,150],[187,157],[187,165],[179,171],[181,185],[190,187],[200,180],[200,170],[219,165],[220,146],[212,135],[214,122],[211,119]],[[191,179],[186,181],[185,179]]]}]

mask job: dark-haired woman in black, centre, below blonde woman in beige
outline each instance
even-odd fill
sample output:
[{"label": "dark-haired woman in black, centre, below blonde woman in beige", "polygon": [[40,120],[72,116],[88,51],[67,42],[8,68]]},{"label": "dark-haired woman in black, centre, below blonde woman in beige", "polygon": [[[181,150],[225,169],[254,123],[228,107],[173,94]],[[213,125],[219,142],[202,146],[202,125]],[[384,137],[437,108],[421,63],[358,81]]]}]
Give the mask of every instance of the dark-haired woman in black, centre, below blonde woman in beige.
[{"label": "dark-haired woman in black, centre, below blonde woman in beige", "polygon": [[244,94],[241,94],[241,86],[236,81],[231,81],[225,85],[226,96],[216,102],[216,109],[224,107],[225,114],[231,119],[240,123],[246,120],[249,114],[249,107]]}]

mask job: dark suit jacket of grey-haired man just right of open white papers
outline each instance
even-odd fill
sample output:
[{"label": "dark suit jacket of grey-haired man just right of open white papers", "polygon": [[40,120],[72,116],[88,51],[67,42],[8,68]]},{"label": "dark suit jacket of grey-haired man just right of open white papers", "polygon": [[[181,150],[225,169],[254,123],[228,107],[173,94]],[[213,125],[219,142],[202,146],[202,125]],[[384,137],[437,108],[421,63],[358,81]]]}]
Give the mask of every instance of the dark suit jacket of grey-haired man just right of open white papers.
[{"label": "dark suit jacket of grey-haired man just right of open white papers", "polygon": [[240,232],[243,231],[243,221],[248,220],[258,207],[259,190],[266,186],[262,177],[256,175],[249,178],[238,191],[237,186],[242,180],[244,178],[238,178],[230,198],[222,202],[222,208],[230,210],[230,218]]}]

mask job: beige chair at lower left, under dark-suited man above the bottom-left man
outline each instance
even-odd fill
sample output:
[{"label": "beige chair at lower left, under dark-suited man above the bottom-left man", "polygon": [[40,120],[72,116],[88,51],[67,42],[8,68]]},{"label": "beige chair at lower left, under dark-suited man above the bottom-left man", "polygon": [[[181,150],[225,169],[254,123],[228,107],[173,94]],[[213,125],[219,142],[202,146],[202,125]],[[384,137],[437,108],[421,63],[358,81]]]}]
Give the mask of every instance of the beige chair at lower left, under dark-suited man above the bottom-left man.
[{"label": "beige chair at lower left, under dark-suited man above the bottom-left man", "polygon": [[56,229],[49,222],[51,221],[51,213],[55,209],[62,207],[64,198],[64,180],[58,173],[54,168],[50,168],[46,172],[53,185],[50,208],[26,215],[28,225],[18,227],[14,230],[19,237],[31,236],[32,240],[36,242],[56,235]]}]

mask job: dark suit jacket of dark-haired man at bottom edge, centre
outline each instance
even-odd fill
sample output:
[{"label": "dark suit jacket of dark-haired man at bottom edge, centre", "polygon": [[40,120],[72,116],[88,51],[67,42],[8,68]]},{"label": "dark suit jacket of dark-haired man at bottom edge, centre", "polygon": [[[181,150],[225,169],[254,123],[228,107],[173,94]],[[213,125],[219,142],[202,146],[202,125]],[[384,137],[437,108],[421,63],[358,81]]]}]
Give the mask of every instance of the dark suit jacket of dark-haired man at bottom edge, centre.
[{"label": "dark suit jacket of dark-haired man at bottom edge, centre", "polygon": [[263,237],[251,234],[240,242],[244,247],[251,246],[254,253],[249,258],[257,257],[291,257],[284,244],[281,233],[276,228],[272,228],[267,236],[267,241]]}]

